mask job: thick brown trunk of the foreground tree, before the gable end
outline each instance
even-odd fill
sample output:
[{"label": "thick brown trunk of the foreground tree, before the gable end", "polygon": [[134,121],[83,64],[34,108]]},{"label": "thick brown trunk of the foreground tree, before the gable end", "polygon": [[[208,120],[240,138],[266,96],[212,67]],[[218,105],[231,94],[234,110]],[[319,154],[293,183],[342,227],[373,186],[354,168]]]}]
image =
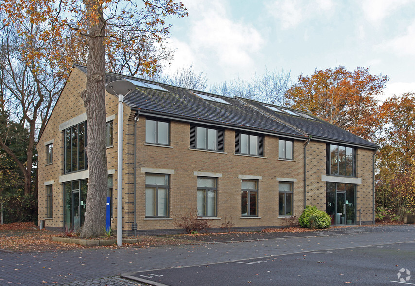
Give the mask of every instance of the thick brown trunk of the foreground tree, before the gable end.
[{"label": "thick brown trunk of the foreground tree, before the gable end", "polygon": [[[102,6],[84,1],[88,14],[102,17]],[[105,25],[102,18],[90,22],[86,90],[81,93],[87,117],[88,195],[81,237],[97,237],[105,227],[107,161],[105,148]]]}]

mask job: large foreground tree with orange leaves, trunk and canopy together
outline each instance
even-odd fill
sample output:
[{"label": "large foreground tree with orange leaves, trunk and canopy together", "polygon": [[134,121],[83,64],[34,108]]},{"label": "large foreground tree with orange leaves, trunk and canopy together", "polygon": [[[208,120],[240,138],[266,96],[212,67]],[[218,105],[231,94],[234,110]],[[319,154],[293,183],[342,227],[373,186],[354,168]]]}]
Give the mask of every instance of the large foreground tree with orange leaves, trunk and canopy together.
[{"label": "large foreground tree with orange leaves, trunk and canopy together", "polygon": [[[31,50],[35,59],[61,58],[61,45],[74,50],[72,57],[86,59],[86,89],[80,96],[84,100],[88,118],[88,196],[87,211],[81,237],[100,235],[105,225],[106,151],[105,151],[105,64],[116,72],[155,73],[157,49],[147,45],[159,44],[168,36],[170,26],[165,18],[187,15],[182,3],[172,0],[62,0],[58,3],[45,0],[17,0],[0,2],[0,10],[16,26],[19,36],[22,24],[19,19],[30,17],[30,23],[43,25],[40,40],[52,39],[54,49],[47,54],[41,47]],[[5,23],[7,24],[7,23]],[[80,40],[76,40],[80,39]],[[83,40],[83,41],[82,41]],[[87,45],[87,51],[84,48]],[[87,56],[84,53],[87,53]],[[107,59],[107,60],[106,60]],[[119,170],[121,171],[121,170]],[[122,227],[122,226],[118,226]]]}]

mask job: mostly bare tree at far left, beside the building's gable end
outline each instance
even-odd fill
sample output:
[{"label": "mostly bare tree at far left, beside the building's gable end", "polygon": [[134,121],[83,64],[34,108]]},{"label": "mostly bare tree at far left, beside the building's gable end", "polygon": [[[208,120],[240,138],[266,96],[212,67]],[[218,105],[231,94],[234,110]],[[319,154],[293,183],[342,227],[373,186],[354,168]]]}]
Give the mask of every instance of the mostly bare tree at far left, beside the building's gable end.
[{"label": "mostly bare tree at far left, beside the building's gable end", "polygon": [[[24,176],[24,194],[29,195],[35,191],[31,178],[36,136],[46,125],[68,69],[56,58],[46,57],[54,40],[43,38],[44,25],[33,23],[31,17],[10,22],[3,12],[0,15],[0,148],[17,163]],[[24,158],[9,145],[7,127],[13,124],[28,130],[22,134],[27,143]]]}]

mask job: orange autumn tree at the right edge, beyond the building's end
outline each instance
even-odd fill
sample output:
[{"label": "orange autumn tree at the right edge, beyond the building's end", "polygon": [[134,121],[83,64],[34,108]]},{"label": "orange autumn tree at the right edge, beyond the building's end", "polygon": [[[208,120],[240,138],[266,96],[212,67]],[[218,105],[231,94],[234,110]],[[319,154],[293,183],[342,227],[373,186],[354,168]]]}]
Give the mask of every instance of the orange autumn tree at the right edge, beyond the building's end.
[{"label": "orange autumn tree at the right edge, beyond the building's end", "polygon": [[399,218],[415,208],[415,93],[393,96],[382,105],[387,114],[376,176],[376,203]]}]

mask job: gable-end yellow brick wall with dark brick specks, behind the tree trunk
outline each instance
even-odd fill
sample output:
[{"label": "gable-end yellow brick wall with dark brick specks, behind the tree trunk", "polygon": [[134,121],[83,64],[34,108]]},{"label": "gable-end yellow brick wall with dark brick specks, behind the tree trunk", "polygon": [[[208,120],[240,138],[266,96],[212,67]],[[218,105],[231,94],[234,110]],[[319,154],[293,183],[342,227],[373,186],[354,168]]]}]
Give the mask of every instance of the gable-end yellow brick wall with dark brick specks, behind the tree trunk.
[{"label": "gable-end yellow brick wall with dark brick specks, behind the tree trunk", "polygon": [[[63,175],[63,132],[59,131],[59,125],[76,116],[84,114],[86,109],[80,97],[80,92],[86,86],[86,74],[74,68],[68,82],[62,91],[48,124],[37,143],[38,150],[38,219],[45,220],[46,227],[63,227],[63,183],[59,182],[59,176]],[[106,94],[105,105],[107,116],[115,115],[113,120],[113,147],[107,148],[108,170],[115,170],[114,192],[117,186],[117,113],[118,98]],[[131,110],[124,105],[124,121],[128,120]],[[126,132],[124,129],[124,136]],[[54,140],[53,143],[53,163],[46,165],[45,142]],[[124,150],[124,154],[125,154]],[[47,218],[46,214],[46,187],[45,182],[53,181],[53,218]],[[116,196],[116,195],[115,195]]]}]

